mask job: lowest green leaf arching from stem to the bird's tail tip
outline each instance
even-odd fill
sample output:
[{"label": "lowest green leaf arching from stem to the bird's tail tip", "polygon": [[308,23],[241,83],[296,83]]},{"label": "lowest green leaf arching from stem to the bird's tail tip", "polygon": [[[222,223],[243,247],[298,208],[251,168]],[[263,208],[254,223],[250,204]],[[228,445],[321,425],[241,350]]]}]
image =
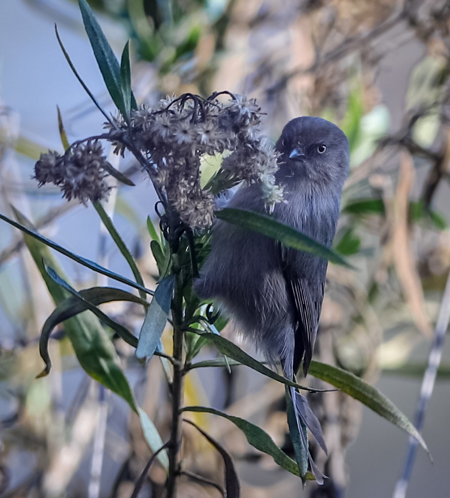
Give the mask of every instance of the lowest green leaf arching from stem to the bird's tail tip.
[{"label": "lowest green leaf arching from stem to the bird's tail tip", "polygon": [[[244,418],[228,415],[223,411],[216,410],[215,408],[210,408],[208,406],[185,406],[181,409],[181,411],[212,413],[214,415],[218,415],[219,417],[227,418],[244,433],[247,441],[254,448],[270,455],[280,467],[283,467],[283,469],[291,472],[291,474],[300,477],[297,463],[286,455],[286,453],[274,443],[274,440],[269,436],[269,434],[267,434],[267,432],[263,431],[261,427],[252,424]],[[306,473],[305,478],[309,481],[314,480],[314,476],[309,472]]]}]

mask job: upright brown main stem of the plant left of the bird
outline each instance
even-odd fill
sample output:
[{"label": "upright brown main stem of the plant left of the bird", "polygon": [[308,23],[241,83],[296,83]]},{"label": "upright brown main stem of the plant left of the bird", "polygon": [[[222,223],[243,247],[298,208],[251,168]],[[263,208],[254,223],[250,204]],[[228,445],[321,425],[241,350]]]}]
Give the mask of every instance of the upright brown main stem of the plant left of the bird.
[{"label": "upright brown main stem of the plant left of the bird", "polygon": [[[174,273],[176,269],[174,268]],[[183,297],[179,273],[176,274],[175,291],[172,301],[173,320],[173,382],[172,382],[172,427],[168,445],[169,477],[167,480],[167,498],[176,497],[179,475],[178,450],[181,443],[180,409],[183,400],[183,341],[182,331]]]}]

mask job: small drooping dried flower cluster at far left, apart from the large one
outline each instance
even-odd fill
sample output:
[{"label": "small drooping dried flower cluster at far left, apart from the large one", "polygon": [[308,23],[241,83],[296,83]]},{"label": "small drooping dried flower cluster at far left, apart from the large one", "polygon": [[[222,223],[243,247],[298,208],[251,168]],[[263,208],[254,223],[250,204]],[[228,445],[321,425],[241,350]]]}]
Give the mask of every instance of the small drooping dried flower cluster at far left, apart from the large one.
[{"label": "small drooping dried flower cluster at far left, apart from the large one", "polygon": [[86,204],[88,200],[108,198],[111,187],[105,178],[110,169],[101,143],[88,140],[72,145],[62,156],[51,150],[41,154],[34,166],[34,178],[39,186],[53,183],[60,187],[67,200],[76,198]]}]

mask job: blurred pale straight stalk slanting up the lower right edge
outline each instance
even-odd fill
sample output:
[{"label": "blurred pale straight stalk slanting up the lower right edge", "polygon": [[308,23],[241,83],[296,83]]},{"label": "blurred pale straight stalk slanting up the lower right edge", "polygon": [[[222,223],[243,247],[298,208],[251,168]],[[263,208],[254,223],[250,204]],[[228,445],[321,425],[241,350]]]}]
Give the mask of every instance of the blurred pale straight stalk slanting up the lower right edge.
[{"label": "blurred pale straight stalk slanting up the lower right edge", "polygon": [[[424,426],[425,412],[427,410],[428,402],[430,401],[431,395],[433,394],[433,389],[436,381],[436,374],[438,372],[438,367],[441,363],[442,350],[444,347],[444,339],[446,331],[449,327],[449,321],[450,321],[450,272],[449,276],[447,277],[446,289],[444,291],[444,296],[442,298],[441,309],[439,310],[438,322],[436,323],[433,345],[430,351],[430,356],[428,358],[428,368],[424,373],[419,403],[417,406],[416,416],[414,420],[416,428],[419,432],[422,431],[422,428]],[[401,479],[397,481],[394,494],[392,495],[393,498],[406,497],[406,491],[408,488],[409,480],[411,478],[414,461],[416,459],[416,452],[417,452],[417,440],[414,438],[410,438],[403,474]]]}]

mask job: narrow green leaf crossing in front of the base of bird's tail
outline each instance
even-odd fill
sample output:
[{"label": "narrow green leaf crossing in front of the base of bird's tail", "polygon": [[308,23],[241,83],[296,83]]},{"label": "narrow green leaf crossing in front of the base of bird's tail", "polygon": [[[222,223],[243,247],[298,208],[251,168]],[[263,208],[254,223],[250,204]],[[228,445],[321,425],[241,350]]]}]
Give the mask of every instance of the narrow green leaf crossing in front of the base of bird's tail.
[{"label": "narrow green leaf crossing in front of the base of bird's tail", "polygon": [[242,365],[246,365],[247,367],[256,370],[256,372],[266,375],[266,377],[273,378],[274,380],[278,380],[283,384],[292,385],[293,387],[297,387],[298,389],[302,389],[304,391],[318,392],[318,391],[329,390],[329,389],[310,389],[309,387],[297,384],[296,382],[293,382],[292,380],[289,380],[288,378],[279,375],[278,373],[268,369],[262,363],[258,362],[250,355],[242,351],[242,349],[239,348],[239,346],[236,346],[236,344],[232,343],[231,341],[228,341],[228,339],[225,339],[222,336],[213,334],[212,332],[201,332],[201,331],[197,332],[194,331],[194,329],[192,329],[191,332],[199,334],[200,337],[203,337],[204,339],[209,339],[209,341],[211,341],[214,344],[214,346],[222,353],[222,355],[225,355],[228,358],[231,358],[232,360],[235,360]]}]

